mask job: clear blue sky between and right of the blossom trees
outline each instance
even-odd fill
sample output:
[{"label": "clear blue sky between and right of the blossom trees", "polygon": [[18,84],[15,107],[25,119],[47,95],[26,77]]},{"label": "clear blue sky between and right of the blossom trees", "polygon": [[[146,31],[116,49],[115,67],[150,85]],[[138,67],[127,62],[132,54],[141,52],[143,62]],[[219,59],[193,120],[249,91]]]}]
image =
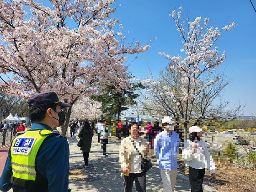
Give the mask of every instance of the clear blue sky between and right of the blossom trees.
[{"label": "clear blue sky between and right of the blossom trees", "polygon": [[[227,85],[223,100],[230,101],[229,108],[238,103],[246,104],[244,115],[256,115],[256,13],[250,0],[117,0],[122,5],[112,14],[121,20],[127,42],[133,38],[142,44],[154,39],[149,51],[130,55],[127,64],[135,56],[129,71],[136,78],[144,78],[151,69],[154,77],[165,68],[168,60],[159,52],[171,56],[180,53],[179,32],[169,13],[182,6],[181,19],[190,20],[197,16],[210,19],[208,26],[222,28],[224,25],[236,23],[236,27],[224,33],[218,40],[220,53],[226,52],[226,59],[218,71],[231,80]],[[256,0],[252,0],[256,6]]]}]

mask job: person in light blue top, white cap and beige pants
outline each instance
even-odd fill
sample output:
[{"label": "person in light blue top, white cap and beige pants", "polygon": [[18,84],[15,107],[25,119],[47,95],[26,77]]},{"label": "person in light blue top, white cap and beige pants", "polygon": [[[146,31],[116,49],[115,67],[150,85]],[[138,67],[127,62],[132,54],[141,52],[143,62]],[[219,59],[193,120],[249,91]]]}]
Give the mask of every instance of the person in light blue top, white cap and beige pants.
[{"label": "person in light blue top, white cap and beige pants", "polygon": [[164,131],[159,133],[154,141],[154,153],[161,169],[163,192],[173,192],[177,176],[177,154],[181,139],[174,131],[174,121],[171,117],[162,119]]}]

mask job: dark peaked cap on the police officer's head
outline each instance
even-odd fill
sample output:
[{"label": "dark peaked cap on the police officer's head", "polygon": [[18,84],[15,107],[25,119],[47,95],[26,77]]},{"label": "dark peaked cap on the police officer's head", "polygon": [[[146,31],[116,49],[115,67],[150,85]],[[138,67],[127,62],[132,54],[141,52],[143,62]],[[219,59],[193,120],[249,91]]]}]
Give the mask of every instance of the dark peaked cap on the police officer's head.
[{"label": "dark peaked cap on the police officer's head", "polygon": [[37,109],[38,107],[43,107],[53,103],[59,105],[61,108],[71,106],[68,103],[59,101],[59,98],[54,91],[37,93],[27,100],[28,107],[31,107],[32,109]]}]

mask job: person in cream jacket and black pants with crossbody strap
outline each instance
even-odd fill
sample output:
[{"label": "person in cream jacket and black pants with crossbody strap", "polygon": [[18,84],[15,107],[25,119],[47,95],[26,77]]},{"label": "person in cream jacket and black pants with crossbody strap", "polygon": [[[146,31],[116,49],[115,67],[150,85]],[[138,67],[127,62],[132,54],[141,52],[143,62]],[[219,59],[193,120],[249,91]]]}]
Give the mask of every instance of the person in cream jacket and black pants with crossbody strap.
[{"label": "person in cream jacket and black pants with crossbody strap", "polygon": [[119,161],[124,179],[124,192],[131,192],[135,180],[136,191],[146,191],[146,172],[142,169],[143,158],[149,150],[147,140],[139,137],[138,124],[133,122],[129,126],[130,136],[122,139],[119,150]]}]

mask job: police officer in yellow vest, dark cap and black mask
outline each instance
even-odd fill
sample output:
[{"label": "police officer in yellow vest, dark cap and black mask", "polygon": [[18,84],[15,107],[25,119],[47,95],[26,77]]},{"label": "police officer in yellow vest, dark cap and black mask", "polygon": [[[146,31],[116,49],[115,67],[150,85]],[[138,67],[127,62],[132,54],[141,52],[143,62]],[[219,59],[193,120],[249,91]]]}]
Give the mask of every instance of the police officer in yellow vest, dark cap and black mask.
[{"label": "police officer in yellow vest, dark cap and black mask", "polygon": [[62,108],[70,105],[55,92],[33,95],[27,103],[32,126],[11,143],[0,190],[68,192],[69,145],[53,128],[64,123]]}]

